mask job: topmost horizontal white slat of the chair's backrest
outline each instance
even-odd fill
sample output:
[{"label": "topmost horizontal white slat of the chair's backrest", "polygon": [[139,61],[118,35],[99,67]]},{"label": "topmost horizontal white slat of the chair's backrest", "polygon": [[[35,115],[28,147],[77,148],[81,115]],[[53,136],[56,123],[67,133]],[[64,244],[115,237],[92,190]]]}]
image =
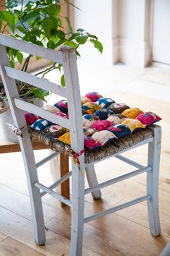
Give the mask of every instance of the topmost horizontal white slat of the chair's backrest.
[{"label": "topmost horizontal white slat of the chair's backrest", "polygon": [[53,51],[43,46],[37,46],[34,43],[27,43],[16,38],[12,38],[9,35],[1,34],[0,44],[3,46],[12,47],[19,51],[24,51],[25,53],[32,54],[33,56],[40,56],[42,58],[50,59],[51,61],[63,64],[61,52]]}]

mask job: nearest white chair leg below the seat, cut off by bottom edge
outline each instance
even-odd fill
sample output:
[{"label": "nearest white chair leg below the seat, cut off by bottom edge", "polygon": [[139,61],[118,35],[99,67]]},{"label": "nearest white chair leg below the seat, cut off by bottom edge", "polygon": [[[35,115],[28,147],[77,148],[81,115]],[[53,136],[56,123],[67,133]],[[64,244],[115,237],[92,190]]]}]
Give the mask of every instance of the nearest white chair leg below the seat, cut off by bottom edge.
[{"label": "nearest white chair leg below the seat, cut off by bottom edge", "polygon": [[84,233],[84,176],[72,162],[71,256],[81,256]]}]

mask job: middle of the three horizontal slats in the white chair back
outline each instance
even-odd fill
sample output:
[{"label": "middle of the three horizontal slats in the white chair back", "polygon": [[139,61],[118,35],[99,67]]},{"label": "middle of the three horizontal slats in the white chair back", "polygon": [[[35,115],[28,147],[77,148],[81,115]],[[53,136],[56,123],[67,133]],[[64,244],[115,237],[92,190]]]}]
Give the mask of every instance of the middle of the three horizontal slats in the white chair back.
[{"label": "middle of the three horizontal slats in the white chair back", "polygon": [[61,85],[57,85],[54,82],[49,82],[48,80],[40,77],[36,77],[33,74],[29,74],[18,69],[13,69],[12,67],[4,67],[4,69],[8,77],[22,82],[27,82],[29,85],[36,86],[66,98],[66,88],[63,88]]}]

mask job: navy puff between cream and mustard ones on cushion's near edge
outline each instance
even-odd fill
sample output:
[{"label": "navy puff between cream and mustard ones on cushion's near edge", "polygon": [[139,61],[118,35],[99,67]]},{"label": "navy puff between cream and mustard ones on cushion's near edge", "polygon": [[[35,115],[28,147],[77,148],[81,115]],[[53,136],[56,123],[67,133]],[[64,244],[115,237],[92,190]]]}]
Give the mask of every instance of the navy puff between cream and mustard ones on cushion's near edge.
[{"label": "navy puff between cream and mustard ones on cushion's near edge", "polygon": [[117,138],[131,134],[131,130],[125,124],[115,124],[107,128],[107,131],[112,132]]}]

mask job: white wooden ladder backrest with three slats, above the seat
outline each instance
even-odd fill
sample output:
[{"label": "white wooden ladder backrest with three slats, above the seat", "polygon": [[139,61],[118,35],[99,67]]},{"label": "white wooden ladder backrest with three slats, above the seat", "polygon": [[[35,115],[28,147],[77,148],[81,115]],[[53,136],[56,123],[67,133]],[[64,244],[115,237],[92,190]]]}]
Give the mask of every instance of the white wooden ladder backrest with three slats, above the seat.
[{"label": "white wooden ladder backrest with three slats, above the seat", "polygon": [[[35,75],[9,67],[9,59],[6,54],[5,46],[23,51],[27,54],[32,54],[32,56],[40,56],[62,64],[66,87],[63,88],[61,85],[57,85],[53,82],[36,77]],[[26,124],[24,111],[28,111],[32,114],[36,114],[37,116],[42,116],[42,118],[48,119],[55,124],[60,124],[61,126],[70,129],[71,148],[76,153],[84,148],[79,77],[76,66],[76,54],[73,48],[63,46],[60,51],[54,51],[0,33],[0,72],[9,101],[9,106],[12,111],[14,125],[17,128],[24,127]],[[66,98],[68,101],[69,119],[56,116],[55,114],[45,111],[32,103],[22,101],[22,99],[19,98],[15,80],[27,82],[37,88],[48,90],[51,93],[55,93]]]}]

